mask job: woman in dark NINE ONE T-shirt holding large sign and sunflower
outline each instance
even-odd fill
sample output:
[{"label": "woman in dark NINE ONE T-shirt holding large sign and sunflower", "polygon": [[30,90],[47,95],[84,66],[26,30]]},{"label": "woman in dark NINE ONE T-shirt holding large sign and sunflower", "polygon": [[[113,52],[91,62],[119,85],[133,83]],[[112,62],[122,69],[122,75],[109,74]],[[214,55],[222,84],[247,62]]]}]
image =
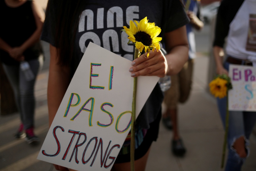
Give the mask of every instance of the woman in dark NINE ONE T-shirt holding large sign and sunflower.
[{"label": "woman in dark NINE ONE T-shirt holding large sign and sunflower", "polygon": [[[154,6],[154,7],[153,7]],[[162,51],[150,52],[148,58],[133,60],[134,47],[127,45],[127,35],[120,34],[130,20],[147,17],[161,27]],[[94,42],[132,61],[131,77],[177,74],[188,58],[188,43],[185,24],[189,22],[179,0],[171,1],[55,1],[49,0],[42,40],[50,43],[50,67],[48,83],[49,124],[58,110],[77,66],[88,46]],[[162,48],[162,47],[161,47]],[[149,148],[158,136],[163,94],[157,84],[139,114],[137,127],[137,148],[135,149],[135,169],[144,170]],[[139,136],[140,135],[140,136]],[[129,170],[129,137],[112,170]],[[55,165],[57,170],[68,170]]]}]

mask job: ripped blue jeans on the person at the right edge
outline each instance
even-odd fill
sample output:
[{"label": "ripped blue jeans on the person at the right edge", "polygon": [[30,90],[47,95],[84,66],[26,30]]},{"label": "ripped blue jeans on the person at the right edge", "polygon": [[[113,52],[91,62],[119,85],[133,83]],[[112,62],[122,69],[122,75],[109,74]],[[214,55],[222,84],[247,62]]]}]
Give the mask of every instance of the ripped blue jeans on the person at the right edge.
[{"label": "ripped blue jeans on the person at the right edge", "polygon": [[[229,69],[228,62],[224,63],[225,69]],[[217,98],[218,109],[222,123],[225,128],[226,120],[226,102],[227,98]],[[252,132],[253,126],[256,121],[256,112],[245,112],[245,111],[229,111],[229,128],[228,128],[228,159],[226,162],[225,171],[240,171],[245,161],[245,158],[241,158],[236,150],[232,147],[234,142],[239,137],[245,138],[245,149],[247,156],[249,155],[249,137]]]}]

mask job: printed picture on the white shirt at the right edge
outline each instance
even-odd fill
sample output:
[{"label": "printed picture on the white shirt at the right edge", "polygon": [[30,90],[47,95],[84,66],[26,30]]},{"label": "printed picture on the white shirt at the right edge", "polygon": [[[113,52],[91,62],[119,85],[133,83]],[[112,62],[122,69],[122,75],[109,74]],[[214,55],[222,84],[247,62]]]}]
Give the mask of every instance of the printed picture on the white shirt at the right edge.
[{"label": "printed picture on the white shirt at the right edge", "polygon": [[246,50],[256,51],[256,14],[250,14]]}]

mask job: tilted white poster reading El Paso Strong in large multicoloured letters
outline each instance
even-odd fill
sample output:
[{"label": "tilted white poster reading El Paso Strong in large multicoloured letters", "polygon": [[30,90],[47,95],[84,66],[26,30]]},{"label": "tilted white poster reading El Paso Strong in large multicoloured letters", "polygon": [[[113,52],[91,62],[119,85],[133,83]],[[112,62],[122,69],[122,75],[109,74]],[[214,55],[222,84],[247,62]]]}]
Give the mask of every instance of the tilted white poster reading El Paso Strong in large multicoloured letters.
[{"label": "tilted white poster reading El Paso Strong in large multicoloured letters", "polygon": [[[39,160],[111,170],[131,129],[131,61],[90,43],[42,145]],[[158,81],[138,77],[136,117]]]}]

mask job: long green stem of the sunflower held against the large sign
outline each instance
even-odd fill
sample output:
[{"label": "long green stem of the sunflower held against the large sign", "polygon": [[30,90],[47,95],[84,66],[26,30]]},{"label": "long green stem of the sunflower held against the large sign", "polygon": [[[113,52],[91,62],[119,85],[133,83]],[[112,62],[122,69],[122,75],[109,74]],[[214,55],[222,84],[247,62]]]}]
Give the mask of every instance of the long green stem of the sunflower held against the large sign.
[{"label": "long green stem of the sunflower held against the large sign", "polygon": [[[139,50],[135,48],[134,59],[140,55]],[[131,119],[131,171],[134,167],[134,151],[135,151],[135,120],[136,120],[136,95],[137,95],[137,77],[133,78],[133,104],[132,104],[132,119]]]}]

